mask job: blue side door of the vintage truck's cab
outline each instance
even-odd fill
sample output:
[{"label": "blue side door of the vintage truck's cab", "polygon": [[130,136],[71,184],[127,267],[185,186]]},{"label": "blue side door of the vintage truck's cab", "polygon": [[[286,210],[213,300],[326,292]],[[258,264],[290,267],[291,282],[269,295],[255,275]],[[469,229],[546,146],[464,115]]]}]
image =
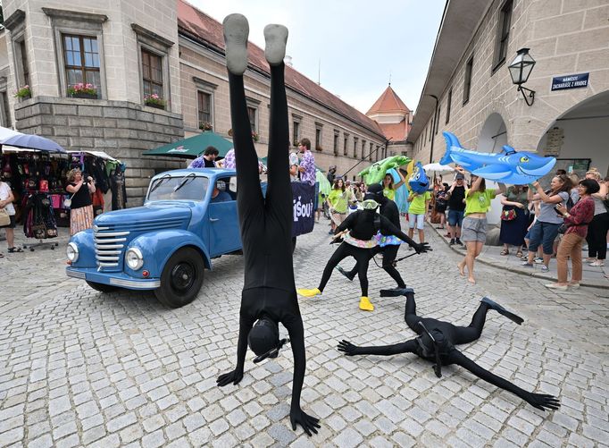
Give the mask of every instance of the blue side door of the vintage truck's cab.
[{"label": "blue side door of the vintage truck's cab", "polygon": [[[216,181],[220,187],[216,199],[211,199],[209,210],[210,255],[220,256],[241,249],[241,234],[237,215],[237,177],[226,177]],[[213,186],[210,186],[213,188]],[[212,193],[213,196],[213,193]]]}]

